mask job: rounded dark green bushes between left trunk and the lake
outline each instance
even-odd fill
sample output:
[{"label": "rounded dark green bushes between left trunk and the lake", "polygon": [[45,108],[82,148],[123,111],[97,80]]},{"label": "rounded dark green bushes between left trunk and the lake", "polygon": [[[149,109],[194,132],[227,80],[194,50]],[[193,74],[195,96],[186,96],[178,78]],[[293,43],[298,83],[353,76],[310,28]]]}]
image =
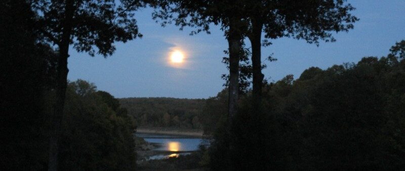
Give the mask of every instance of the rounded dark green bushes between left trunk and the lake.
[{"label": "rounded dark green bushes between left trunk and the lake", "polygon": [[86,81],[69,83],[60,147],[63,170],[135,168],[135,121],[119,104],[106,101],[117,99]]}]

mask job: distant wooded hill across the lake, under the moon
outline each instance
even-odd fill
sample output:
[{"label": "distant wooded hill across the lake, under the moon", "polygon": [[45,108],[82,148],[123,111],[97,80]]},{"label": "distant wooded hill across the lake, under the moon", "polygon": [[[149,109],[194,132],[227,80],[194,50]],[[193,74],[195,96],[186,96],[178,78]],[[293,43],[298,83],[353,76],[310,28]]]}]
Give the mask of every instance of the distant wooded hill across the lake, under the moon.
[{"label": "distant wooded hill across the lake, under the moon", "polygon": [[200,129],[206,100],[149,97],[120,98],[119,103],[127,108],[138,126]]}]

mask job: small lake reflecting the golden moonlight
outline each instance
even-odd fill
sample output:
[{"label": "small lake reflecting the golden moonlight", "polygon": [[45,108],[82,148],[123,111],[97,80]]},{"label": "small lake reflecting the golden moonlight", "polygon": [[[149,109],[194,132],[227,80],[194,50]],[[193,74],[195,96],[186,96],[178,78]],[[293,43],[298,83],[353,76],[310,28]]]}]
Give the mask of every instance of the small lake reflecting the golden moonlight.
[{"label": "small lake reflecting the golden moonlight", "polygon": [[158,147],[152,149],[158,154],[149,156],[148,159],[163,159],[168,157],[177,157],[187,155],[192,151],[198,150],[201,138],[187,137],[177,135],[159,135],[136,133],[137,137],[145,139],[148,143],[157,144]]}]

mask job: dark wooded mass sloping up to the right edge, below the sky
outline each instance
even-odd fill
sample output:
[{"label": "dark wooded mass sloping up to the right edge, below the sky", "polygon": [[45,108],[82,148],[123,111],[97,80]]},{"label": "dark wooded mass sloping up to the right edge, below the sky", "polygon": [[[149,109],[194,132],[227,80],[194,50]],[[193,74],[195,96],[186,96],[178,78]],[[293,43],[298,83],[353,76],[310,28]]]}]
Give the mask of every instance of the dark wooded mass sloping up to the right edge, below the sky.
[{"label": "dark wooded mass sloping up to the right edge, below the sky", "polygon": [[213,123],[219,123],[209,150],[210,167],[405,168],[404,51],[401,41],[382,58],[366,57],[326,70],[311,67],[296,80],[288,75],[263,87],[261,112],[252,112],[248,92],[239,101],[230,132],[218,107],[226,95],[208,99],[205,109],[217,116]]}]

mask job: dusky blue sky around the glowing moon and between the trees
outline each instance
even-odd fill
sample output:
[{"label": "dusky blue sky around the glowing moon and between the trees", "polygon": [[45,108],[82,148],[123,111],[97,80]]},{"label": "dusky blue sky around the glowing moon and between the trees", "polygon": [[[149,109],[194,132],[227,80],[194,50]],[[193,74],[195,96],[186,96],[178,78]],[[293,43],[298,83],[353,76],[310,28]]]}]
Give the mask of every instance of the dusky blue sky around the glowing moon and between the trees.
[{"label": "dusky blue sky around the glowing moon and between the trees", "polygon": [[[363,56],[384,56],[396,42],[405,39],[405,1],[350,1],[360,21],[348,33],[334,33],[334,43],[319,47],[302,40],[281,38],[262,48],[263,57],[274,53],[276,62],[266,62],[263,71],[269,81],[288,74],[298,78],[307,68],[327,69],[334,64],[358,62]],[[227,42],[219,27],[211,34],[189,36],[192,29],[160,27],[151,19],[151,9],[137,12],[143,38],[116,43],[116,51],[104,59],[70,49],[69,80],[83,79],[115,97],[207,98],[215,96],[227,73],[221,63]],[[249,44],[247,44],[250,46]],[[167,62],[171,49],[186,51],[186,64],[180,68]]]}]

